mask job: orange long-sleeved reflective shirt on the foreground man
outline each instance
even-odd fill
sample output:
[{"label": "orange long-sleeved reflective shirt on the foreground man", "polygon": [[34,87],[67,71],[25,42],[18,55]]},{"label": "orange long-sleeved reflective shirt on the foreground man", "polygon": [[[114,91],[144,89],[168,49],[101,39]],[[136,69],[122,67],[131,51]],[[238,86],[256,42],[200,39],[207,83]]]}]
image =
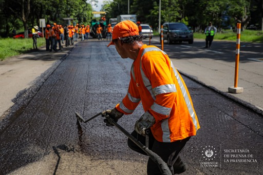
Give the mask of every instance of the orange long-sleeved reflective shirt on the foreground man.
[{"label": "orange long-sleeved reflective shirt on the foreground man", "polygon": [[142,103],[155,118],[151,127],[159,142],[175,142],[196,135],[200,128],[191,96],[168,55],[143,45],[130,70],[126,96],[117,110],[131,114]]}]

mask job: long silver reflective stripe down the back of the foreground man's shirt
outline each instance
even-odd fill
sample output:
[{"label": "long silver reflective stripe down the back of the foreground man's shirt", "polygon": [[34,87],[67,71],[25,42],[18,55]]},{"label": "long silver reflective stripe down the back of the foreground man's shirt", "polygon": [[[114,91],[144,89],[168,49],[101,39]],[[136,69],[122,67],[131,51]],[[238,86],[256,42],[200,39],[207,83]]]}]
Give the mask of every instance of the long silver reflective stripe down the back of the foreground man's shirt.
[{"label": "long silver reflective stripe down the back of the foreground man's shirt", "polygon": [[191,115],[191,117],[192,117],[192,119],[193,119],[193,123],[194,123],[194,125],[195,125],[195,128],[196,128],[196,130],[197,130],[197,121],[196,121],[196,119],[195,119],[196,114],[195,114],[194,109],[193,109],[193,107],[192,107],[192,104],[191,104],[191,101],[190,101],[190,97],[188,96],[188,94],[187,94],[187,92],[186,92],[186,89],[185,89],[185,87],[183,86],[183,83],[182,83],[182,81],[181,81],[181,79],[180,79],[180,77],[179,77],[179,74],[177,73],[177,70],[175,69],[172,61],[171,61],[171,66],[172,66],[172,68],[173,68],[173,70],[174,70],[174,73],[175,73],[177,82],[178,82],[178,84],[179,84],[179,86],[180,86],[180,88],[181,88],[181,91],[182,91],[182,94],[183,94],[183,97],[184,97],[184,101],[185,101],[185,103],[186,103],[186,106],[187,106],[187,108],[188,108],[188,110],[189,110],[189,113],[190,113],[190,115]]}]

